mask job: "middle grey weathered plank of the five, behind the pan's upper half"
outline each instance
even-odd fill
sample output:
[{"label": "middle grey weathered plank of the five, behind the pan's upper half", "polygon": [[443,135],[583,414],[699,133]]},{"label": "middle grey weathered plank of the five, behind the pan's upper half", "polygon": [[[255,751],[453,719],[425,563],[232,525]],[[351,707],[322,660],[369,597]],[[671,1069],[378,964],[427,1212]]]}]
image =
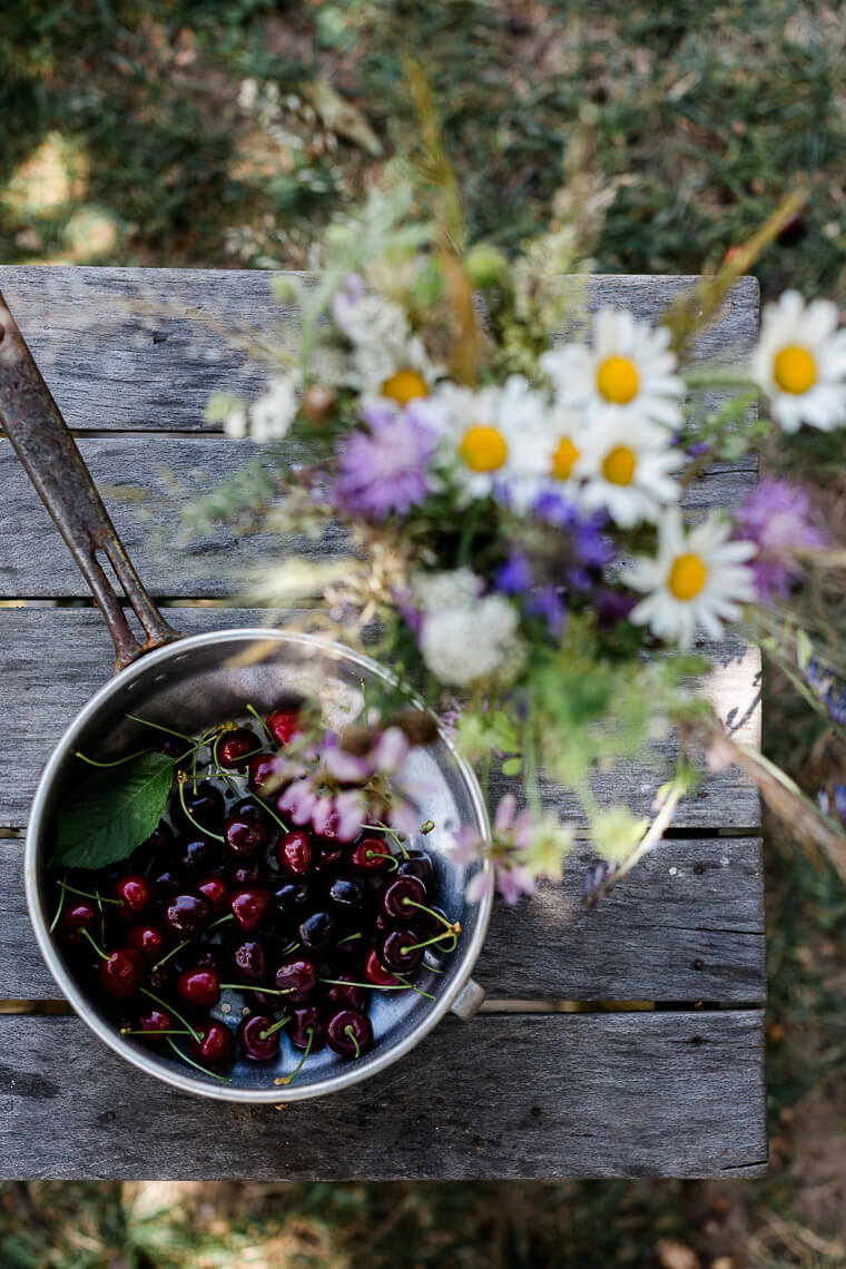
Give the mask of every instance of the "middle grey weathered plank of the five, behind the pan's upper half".
[{"label": "middle grey weathered plank of the five, behind the pan's upper half", "polygon": [[[70,567],[70,565],[68,565]],[[186,632],[257,626],[264,614],[250,609],[176,608],[171,619]],[[0,733],[0,764],[15,778],[0,787],[0,825],[25,824],[43,763],[74,714],[105,680],[112,648],[99,613],[91,608],[0,608],[0,716],[14,720]],[[756,744],[758,736],[758,654],[727,641],[706,650],[715,665],[710,692],[723,717],[732,714],[738,737]],[[668,768],[674,741],[656,747]],[[638,764],[621,764],[613,774],[597,774],[601,801],[619,799],[620,789],[638,813],[649,813],[657,787],[666,778]],[[493,801],[502,791],[492,786]],[[581,820],[571,797],[557,799],[562,813]],[[760,824],[755,787],[736,769],[712,775],[695,797],[682,803],[675,824],[684,827],[750,829]]]}]

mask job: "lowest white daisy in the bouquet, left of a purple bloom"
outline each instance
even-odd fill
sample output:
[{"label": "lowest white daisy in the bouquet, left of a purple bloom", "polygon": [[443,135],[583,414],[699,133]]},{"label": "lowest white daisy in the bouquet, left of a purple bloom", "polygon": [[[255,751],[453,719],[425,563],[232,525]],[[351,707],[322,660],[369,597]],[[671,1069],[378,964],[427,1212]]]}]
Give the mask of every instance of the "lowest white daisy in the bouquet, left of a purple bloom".
[{"label": "lowest white daisy in the bouquet, left of a purple bloom", "polygon": [[658,525],[658,556],[639,558],[628,575],[629,585],[646,591],[632,621],[651,626],[658,638],[689,647],[701,627],[709,638],[720,638],[722,622],[741,615],[741,604],[755,599],[755,581],[745,561],[756,551],[752,542],[731,542],[731,523],[713,514],[685,533],[681,511],[670,508]]}]

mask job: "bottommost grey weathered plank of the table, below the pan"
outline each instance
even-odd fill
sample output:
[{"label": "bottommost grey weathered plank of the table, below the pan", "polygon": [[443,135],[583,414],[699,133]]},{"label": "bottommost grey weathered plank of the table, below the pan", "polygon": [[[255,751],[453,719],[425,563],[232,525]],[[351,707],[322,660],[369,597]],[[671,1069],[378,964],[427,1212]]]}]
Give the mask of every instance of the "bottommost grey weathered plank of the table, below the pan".
[{"label": "bottommost grey weathered plank of the table, below the pan", "polygon": [[14,1178],[755,1176],[764,1015],[448,1019],[378,1080],[236,1108],[178,1094],[74,1018],[0,1018]]}]

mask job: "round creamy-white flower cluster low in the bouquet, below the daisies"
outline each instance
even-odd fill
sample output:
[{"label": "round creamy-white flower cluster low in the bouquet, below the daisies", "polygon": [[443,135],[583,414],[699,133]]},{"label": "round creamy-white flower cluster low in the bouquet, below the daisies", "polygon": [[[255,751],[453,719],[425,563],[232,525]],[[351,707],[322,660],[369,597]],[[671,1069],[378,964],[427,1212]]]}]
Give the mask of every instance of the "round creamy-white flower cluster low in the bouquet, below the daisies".
[{"label": "round creamy-white flower cluster low in the bouquet, below the daisies", "polygon": [[426,614],[420,637],[424,661],[441,683],[468,687],[509,681],[523,665],[517,613],[504,595],[486,595]]}]

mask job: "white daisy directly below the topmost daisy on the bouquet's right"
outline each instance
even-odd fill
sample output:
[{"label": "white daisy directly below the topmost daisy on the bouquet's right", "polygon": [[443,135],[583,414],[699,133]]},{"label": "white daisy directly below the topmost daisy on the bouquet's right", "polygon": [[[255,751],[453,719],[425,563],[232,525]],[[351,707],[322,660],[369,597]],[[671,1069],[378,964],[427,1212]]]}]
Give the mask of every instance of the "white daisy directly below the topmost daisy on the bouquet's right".
[{"label": "white daisy directly below the topmost daisy on the bouquet's right", "polygon": [[680,487],[670,475],[684,466],[663,429],[635,420],[605,418],[583,428],[575,444],[580,453],[572,475],[583,481],[578,503],[587,511],[606,510],[621,528],[657,520]]}]

